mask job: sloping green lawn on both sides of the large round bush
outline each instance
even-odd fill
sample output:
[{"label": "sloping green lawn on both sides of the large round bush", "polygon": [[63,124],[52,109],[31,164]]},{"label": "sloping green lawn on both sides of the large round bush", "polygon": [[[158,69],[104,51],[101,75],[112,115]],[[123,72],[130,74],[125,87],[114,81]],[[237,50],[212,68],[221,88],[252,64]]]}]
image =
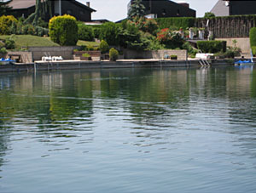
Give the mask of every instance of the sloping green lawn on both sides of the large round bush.
[{"label": "sloping green lawn on both sides of the large round bush", "polygon": [[[0,36],[0,40],[6,39],[7,37],[10,37],[10,36]],[[60,46],[57,43],[53,43],[49,37],[37,37],[37,36],[31,36],[31,35],[12,35],[12,38],[15,40],[16,49],[26,48],[26,47],[40,47],[40,46],[42,47]],[[78,46],[91,45],[93,47],[98,47],[100,43],[79,40],[77,45]]]}]

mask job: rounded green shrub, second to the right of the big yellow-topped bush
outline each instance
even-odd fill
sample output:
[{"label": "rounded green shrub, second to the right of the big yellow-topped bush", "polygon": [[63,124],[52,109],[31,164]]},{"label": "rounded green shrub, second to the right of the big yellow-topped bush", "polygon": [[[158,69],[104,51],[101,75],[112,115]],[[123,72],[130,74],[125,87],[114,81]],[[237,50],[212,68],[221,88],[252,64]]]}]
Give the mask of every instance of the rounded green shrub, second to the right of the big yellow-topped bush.
[{"label": "rounded green shrub, second to the right of the big yellow-topped bush", "polygon": [[113,22],[108,22],[102,25],[100,39],[105,40],[109,45],[119,44],[119,27]]}]

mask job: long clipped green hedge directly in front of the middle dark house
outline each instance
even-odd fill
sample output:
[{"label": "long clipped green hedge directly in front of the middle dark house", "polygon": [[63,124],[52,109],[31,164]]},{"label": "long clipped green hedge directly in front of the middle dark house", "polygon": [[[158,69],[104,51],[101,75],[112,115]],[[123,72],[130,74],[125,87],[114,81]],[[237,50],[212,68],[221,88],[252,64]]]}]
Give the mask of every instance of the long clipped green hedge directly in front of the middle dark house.
[{"label": "long clipped green hedge directly in front of the middle dark house", "polygon": [[195,26],[195,18],[193,17],[181,17],[181,18],[158,18],[156,19],[158,25],[160,26],[160,29],[177,27],[186,29],[188,27],[194,27]]}]

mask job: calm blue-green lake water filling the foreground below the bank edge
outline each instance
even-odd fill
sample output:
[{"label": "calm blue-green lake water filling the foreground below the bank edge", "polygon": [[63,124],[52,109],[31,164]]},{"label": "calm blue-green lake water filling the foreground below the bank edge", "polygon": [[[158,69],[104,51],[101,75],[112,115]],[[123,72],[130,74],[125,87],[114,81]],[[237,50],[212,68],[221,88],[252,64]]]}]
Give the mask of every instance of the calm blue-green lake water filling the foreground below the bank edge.
[{"label": "calm blue-green lake water filling the foreground below the bank edge", "polygon": [[256,68],[0,74],[0,192],[256,192]]}]

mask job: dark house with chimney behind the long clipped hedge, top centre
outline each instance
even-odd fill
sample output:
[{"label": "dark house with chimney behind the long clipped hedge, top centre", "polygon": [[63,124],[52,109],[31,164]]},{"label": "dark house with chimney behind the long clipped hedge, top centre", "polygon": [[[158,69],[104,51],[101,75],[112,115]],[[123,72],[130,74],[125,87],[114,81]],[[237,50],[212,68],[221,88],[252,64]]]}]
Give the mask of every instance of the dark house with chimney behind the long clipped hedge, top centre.
[{"label": "dark house with chimney behind the long clipped hedge, top centre", "polygon": [[[128,4],[128,12],[132,3],[133,0]],[[185,2],[174,3],[169,0],[143,0],[142,3],[146,8],[146,15],[150,18],[196,16],[195,10],[190,9],[189,3]]]}]

